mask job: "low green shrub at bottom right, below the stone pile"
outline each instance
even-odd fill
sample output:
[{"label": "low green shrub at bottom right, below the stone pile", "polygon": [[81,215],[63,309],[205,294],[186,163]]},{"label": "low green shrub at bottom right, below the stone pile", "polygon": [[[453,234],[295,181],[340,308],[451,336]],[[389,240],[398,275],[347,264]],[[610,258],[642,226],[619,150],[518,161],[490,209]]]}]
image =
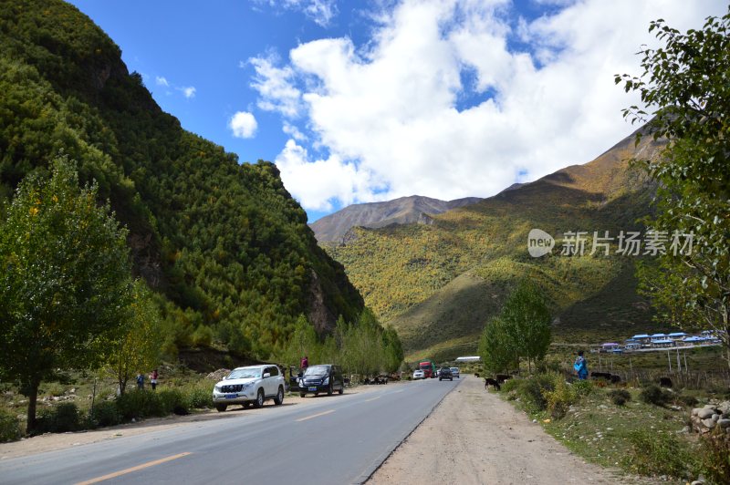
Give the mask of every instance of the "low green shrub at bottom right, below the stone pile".
[{"label": "low green shrub at bottom right, below the stone pile", "polygon": [[696,469],[689,449],[671,433],[642,429],[632,432],[629,440],[631,449],[623,463],[634,473],[684,478]]}]

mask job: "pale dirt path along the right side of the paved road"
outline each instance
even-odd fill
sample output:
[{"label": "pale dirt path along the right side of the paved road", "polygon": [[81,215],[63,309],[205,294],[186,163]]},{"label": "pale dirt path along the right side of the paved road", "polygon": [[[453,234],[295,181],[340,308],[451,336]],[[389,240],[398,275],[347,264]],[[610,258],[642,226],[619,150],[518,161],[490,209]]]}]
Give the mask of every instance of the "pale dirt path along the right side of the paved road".
[{"label": "pale dirt path along the right side of the paved road", "polygon": [[484,381],[462,377],[367,482],[464,484],[641,483],[588,464]]}]

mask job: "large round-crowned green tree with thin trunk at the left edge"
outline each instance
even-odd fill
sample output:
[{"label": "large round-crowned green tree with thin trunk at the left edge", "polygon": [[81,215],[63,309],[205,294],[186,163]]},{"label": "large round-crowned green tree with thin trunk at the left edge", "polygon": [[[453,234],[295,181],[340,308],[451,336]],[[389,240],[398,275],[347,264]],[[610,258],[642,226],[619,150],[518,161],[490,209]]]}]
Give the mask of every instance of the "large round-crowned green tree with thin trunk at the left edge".
[{"label": "large round-crowned green tree with thin trunk at the left edge", "polygon": [[59,159],[50,180],[29,176],[0,225],[0,373],[28,397],[36,425],[42,379],[57,368],[99,366],[130,304],[130,256],[97,186],[78,186]]}]

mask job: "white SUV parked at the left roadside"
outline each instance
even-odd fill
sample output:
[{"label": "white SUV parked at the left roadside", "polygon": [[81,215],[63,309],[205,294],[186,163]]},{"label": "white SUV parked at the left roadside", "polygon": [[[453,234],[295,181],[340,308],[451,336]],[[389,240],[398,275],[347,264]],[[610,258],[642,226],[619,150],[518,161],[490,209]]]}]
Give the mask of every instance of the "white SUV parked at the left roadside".
[{"label": "white SUV parked at the left roadside", "polygon": [[236,367],[213,388],[213,403],[220,412],[231,404],[261,408],[266,399],[274,399],[276,406],[284,402],[284,377],[277,366]]}]

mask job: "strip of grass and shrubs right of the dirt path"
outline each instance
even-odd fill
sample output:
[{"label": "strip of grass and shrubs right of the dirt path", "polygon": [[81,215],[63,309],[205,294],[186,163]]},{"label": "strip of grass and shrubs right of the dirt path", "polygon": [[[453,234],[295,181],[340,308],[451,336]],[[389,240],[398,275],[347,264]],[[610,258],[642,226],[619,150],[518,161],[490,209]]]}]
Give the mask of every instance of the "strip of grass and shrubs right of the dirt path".
[{"label": "strip of grass and shrubs right of the dirt path", "polygon": [[726,387],[713,393],[639,381],[611,385],[551,371],[509,379],[500,395],[568,449],[602,466],[668,480],[702,475],[721,484],[730,477],[725,430],[700,437],[689,426],[693,408],[730,399]]}]

